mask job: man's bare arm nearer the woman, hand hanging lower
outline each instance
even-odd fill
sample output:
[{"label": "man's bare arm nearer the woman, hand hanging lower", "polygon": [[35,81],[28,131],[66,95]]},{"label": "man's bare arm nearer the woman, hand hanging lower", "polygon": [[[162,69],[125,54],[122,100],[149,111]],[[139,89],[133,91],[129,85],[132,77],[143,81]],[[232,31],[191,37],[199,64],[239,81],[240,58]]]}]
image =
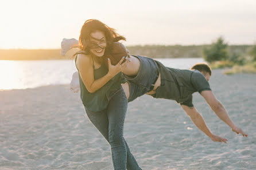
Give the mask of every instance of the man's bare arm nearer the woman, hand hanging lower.
[{"label": "man's bare arm nearer the woman, hand hanging lower", "polygon": [[189,107],[186,105],[181,105],[181,108],[184,109],[184,111],[188,114],[188,116],[191,118],[193,123],[199,128],[202,132],[205,133],[208,137],[211,138],[212,141],[219,141],[227,143],[227,139],[224,139],[222,137],[216,136],[212,134],[210,129],[205,124],[204,118],[201,116],[201,114],[196,110],[195,106]]}]

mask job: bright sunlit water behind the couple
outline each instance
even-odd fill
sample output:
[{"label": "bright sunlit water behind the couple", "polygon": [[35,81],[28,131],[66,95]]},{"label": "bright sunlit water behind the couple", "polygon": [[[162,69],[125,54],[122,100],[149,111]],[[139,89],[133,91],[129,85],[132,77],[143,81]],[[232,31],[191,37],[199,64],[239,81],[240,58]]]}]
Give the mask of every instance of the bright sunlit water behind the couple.
[{"label": "bright sunlit water behind the couple", "polygon": [[[189,69],[203,58],[158,58],[165,66]],[[73,60],[0,61],[0,90],[69,84],[76,72]]]}]

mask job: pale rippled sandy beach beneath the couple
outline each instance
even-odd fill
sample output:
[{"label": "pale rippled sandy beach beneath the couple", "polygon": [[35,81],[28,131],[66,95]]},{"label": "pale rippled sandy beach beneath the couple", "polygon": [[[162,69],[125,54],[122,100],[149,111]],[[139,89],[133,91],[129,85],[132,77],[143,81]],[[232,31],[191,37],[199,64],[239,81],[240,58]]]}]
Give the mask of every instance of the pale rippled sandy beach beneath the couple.
[{"label": "pale rippled sandy beach beneath the couple", "polygon": [[[128,105],[124,136],[143,170],[256,169],[256,74],[214,70],[210,85],[236,125],[236,135],[199,93],[193,104],[214,143],[174,101],[142,96]],[[110,145],[88,120],[69,85],[0,92],[0,169],[113,169]]]}]

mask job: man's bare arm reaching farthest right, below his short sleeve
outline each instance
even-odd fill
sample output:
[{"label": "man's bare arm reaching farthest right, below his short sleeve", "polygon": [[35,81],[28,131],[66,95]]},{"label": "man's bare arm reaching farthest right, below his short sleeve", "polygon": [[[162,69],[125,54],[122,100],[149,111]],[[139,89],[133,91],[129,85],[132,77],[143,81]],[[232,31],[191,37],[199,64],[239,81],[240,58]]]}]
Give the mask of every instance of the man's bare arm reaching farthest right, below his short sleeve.
[{"label": "man's bare arm reaching farthest right, below his short sleeve", "polygon": [[242,131],[241,128],[238,128],[234,122],[230,119],[227,114],[227,110],[224,108],[222,103],[214,96],[211,90],[205,90],[200,93],[201,96],[204,97],[208,105],[210,105],[211,109],[215,112],[215,114],[220,118],[220,120],[224,121],[232,131],[236,132],[237,134],[241,133],[243,136],[248,136],[245,132]]}]

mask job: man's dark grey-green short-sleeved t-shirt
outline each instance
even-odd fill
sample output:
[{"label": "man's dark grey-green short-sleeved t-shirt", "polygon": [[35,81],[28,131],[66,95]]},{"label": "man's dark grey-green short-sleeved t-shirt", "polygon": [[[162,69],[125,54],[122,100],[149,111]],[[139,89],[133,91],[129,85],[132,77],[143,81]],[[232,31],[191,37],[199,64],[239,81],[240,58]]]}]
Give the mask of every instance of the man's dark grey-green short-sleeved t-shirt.
[{"label": "man's dark grey-green short-sleeved t-shirt", "polygon": [[193,93],[211,90],[210,84],[198,70],[173,69],[165,67],[161,62],[156,63],[161,73],[161,86],[152,94],[155,98],[171,99],[193,107]]}]

